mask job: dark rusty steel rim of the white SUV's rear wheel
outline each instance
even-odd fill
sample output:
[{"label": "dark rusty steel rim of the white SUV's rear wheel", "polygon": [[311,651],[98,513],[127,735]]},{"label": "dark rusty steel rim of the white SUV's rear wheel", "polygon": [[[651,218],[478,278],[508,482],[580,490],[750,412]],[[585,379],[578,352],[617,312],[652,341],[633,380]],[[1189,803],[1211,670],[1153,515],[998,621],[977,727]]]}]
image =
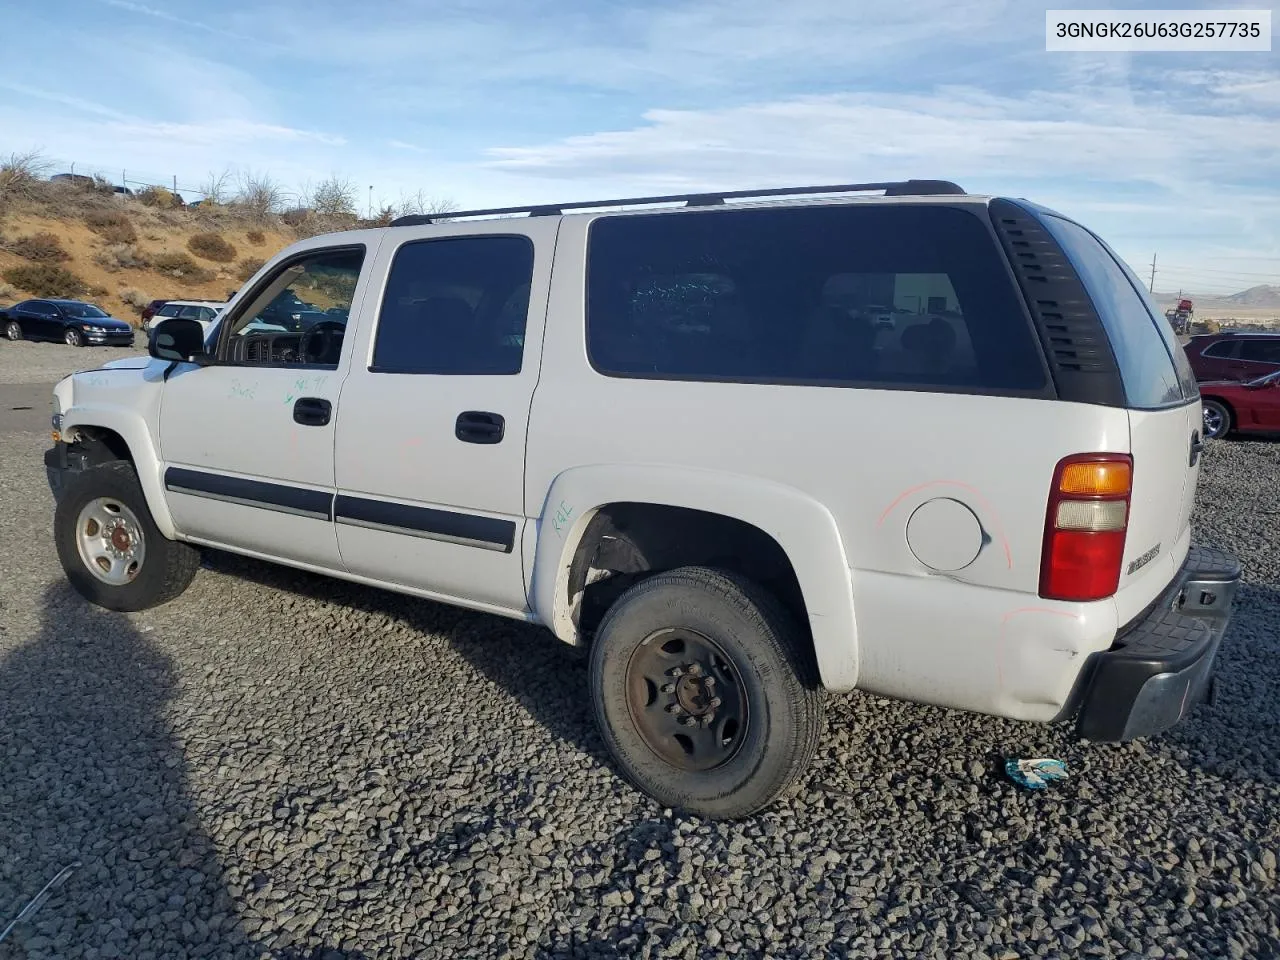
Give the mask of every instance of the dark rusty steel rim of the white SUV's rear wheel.
[{"label": "dark rusty steel rim of the white SUV's rear wheel", "polygon": [[676,769],[716,769],[746,740],[748,700],[739,671],[703,634],[682,627],[650,634],[627,660],[625,681],[636,732]]}]

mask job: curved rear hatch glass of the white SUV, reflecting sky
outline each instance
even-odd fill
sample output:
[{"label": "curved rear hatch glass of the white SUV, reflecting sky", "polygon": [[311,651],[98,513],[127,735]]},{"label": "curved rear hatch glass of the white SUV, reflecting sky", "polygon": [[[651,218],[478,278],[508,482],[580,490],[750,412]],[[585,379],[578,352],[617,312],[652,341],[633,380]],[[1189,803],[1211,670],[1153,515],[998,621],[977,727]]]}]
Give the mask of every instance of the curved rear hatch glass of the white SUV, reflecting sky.
[{"label": "curved rear hatch glass of the white SUV, reflecting sky", "polygon": [[1144,410],[1180,403],[1183,388],[1172,355],[1125,270],[1079,224],[1046,216],[1044,225],[1071,259],[1102,319],[1129,406]]}]

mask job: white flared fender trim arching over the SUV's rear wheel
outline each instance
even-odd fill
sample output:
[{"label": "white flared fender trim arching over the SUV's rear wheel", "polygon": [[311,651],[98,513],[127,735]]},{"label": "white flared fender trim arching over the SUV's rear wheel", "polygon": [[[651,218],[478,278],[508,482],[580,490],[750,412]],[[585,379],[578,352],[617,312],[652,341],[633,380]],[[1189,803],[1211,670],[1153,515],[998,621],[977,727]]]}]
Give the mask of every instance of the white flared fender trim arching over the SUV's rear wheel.
[{"label": "white flared fender trim arching over the SUV's rear wheel", "polygon": [[768,480],[658,463],[605,463],[559,474],[538,521],[530,600],[538,620],[579,641],[570,567],[591,517],[611,503],[653,503],[750,524],[786,552],[804,595],[814,653],[828,690],[858,684],[858,630],[849,561],[836,520],[818,500]]}]

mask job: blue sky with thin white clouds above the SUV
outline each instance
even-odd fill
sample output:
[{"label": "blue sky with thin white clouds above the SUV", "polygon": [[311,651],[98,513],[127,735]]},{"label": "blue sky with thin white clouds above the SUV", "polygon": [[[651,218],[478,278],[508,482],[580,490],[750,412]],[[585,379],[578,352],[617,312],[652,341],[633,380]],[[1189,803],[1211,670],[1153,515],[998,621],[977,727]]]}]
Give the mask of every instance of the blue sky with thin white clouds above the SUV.
[{"label": "blue sky with thin white clouds above the SUV", "polygon": [[188,200],[211,172],[337,175],[361,207],[950,179],[1080,220],[1143,279],[1155,256],[1157,292],[1280,284],[1280,44],[1046,52],[1047,6],[12,4],[0,155]]}]

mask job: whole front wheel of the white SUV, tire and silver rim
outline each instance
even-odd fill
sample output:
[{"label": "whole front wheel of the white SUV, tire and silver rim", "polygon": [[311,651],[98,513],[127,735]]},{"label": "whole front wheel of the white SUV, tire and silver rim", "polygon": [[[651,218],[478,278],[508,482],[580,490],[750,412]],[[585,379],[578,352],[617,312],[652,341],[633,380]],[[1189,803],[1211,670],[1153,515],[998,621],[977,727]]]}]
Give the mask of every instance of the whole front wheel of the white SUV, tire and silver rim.
[{"label": "whole front wheel of the white SUV, tire and silver rim", "polygon": [[156,527],[133,465],[111,461],[72,474],[54,511],[54,540],[67,579],[110,611],[143,611],[187,589],[200,552]]}]

